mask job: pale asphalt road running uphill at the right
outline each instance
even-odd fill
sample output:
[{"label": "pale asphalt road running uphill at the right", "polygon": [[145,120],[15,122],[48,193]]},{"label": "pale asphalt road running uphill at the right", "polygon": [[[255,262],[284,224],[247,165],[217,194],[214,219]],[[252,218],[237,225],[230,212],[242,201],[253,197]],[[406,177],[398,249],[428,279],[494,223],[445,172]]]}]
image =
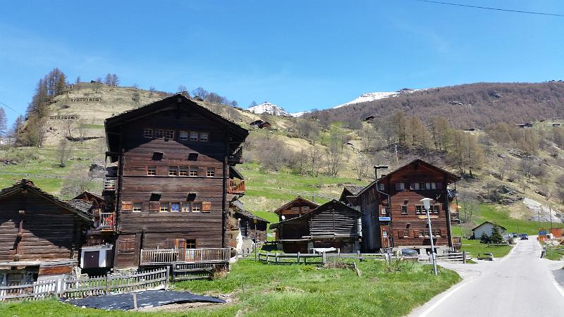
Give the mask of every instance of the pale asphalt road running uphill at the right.
[{"label": "pale asphalt road running uphill at the right", "polygon": [[464,280],[409,316],[564,316],[564,289],[552,272],[563,263],[540,259],[541,247],[530,238],[503,259],[444,265]]}]

